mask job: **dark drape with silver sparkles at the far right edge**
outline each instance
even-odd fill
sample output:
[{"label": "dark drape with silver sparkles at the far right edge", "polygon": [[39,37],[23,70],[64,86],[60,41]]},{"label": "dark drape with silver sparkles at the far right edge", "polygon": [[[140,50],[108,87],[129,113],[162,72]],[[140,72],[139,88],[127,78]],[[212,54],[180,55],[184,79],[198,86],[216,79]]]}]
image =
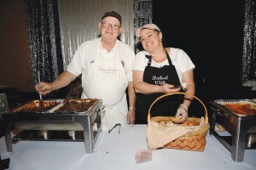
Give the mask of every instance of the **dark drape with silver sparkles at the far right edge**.
[{"label": "dark drape with silver sparkles at the far right edge", "polygon": [[256,79],[256,1],[246,0],[241,81]]}]

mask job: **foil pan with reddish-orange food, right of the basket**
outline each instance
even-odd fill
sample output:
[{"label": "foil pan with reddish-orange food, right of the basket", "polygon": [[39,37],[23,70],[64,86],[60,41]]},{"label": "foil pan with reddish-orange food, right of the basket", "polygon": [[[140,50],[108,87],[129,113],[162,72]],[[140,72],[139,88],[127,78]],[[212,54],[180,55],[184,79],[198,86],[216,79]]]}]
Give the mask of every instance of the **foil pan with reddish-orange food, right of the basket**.
[{"label": "foil pan with reddish-orange food, right of the basket", "polygon": [[[214,100],[219,109],[227,111],[234,116],[256,116],[256,101],[252,99],[217,99]],[[240,105],[237,109],[233,106]]]}]

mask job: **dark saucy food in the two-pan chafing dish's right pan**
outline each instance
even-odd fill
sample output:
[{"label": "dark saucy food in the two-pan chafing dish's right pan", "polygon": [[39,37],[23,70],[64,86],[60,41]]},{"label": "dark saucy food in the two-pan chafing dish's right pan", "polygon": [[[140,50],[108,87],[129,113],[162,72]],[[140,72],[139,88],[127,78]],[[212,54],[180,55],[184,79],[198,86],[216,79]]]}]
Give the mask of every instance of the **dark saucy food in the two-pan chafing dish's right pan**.
[{"label": "dark saucy food in the two-pan chafing dish's right pan", "polygon": [[98,99],[67,99],[64,105],[56,111],[85,112],[89,111],[97,101]]}]

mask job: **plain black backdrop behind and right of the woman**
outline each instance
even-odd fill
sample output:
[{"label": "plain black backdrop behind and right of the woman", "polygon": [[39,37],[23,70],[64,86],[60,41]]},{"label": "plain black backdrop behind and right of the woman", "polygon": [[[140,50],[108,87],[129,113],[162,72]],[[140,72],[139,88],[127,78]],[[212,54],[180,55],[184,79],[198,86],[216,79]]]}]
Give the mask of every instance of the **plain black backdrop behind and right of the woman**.
[{"label": "plain black backdrop behind and right of the woman", "polygon": [[241,96],[247,95],[241,87],[244,8],[241,0],[153,0],[153,23],[165,45],[182,48],[195,63],[197,94],[247,97]]}]

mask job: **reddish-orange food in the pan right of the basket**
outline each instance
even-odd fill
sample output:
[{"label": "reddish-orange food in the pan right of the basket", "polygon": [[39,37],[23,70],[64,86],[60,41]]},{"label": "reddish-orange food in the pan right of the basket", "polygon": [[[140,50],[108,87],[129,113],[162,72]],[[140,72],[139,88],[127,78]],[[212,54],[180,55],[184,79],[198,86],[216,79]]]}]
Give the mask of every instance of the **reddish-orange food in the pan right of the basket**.
[{"label": "reddish-orange food in the pan right of the basket", "polygon": [[256,103],[251,100],[218,102],[219,105],[224,105],[228,110],[237,115],[254,116],[256,115]]}]

